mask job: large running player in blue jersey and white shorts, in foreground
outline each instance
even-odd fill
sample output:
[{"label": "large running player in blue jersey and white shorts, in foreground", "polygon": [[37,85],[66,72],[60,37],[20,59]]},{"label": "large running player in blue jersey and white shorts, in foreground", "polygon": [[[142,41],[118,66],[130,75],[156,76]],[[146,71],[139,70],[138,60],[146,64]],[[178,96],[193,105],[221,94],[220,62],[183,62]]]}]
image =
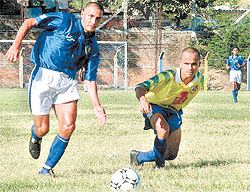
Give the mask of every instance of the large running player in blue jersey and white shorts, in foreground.
[{"label": "large running player in blue jersey and white shorts, in foreground", "polygon": [[54,176],[52,169],[63,156],[75,130],[79,99],[76,72],[82,67],[85,67],[83,80],[95,114],[101,125],[106,122],[96,85],[100,58],[95,29],[102,15],[103,7],[91,2],[81,11],[81,18],[54,12],[27,19],[6,53],[10,61],[17,61],[25,35],[33,27],[42,29],[31,53],[35,67],[29,82],[29,103],[34,116],[29,151],[34,159],[39,158],[42,138],[49,132],[51,108],[55,109],[59,130],[39,171],[41,175]]}]

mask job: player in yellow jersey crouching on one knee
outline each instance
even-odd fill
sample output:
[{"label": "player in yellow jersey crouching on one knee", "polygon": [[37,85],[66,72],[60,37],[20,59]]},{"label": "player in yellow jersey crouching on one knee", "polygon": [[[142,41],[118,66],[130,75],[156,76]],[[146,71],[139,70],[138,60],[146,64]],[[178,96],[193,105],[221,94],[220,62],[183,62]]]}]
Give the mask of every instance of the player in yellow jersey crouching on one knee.
[{"label": "player in yellow jersey crouching on one knee", "polygon": [[153,150],[130,152],[131,165],[155,161],[156,167],[177,157],[181,141],[182,108],[203,86],[204,77],[198,70],[200,53],[187,47],[182,51],[180,67],[157,74],[136,86],[136,97],[145,118],[144,129],[156,134]]}]

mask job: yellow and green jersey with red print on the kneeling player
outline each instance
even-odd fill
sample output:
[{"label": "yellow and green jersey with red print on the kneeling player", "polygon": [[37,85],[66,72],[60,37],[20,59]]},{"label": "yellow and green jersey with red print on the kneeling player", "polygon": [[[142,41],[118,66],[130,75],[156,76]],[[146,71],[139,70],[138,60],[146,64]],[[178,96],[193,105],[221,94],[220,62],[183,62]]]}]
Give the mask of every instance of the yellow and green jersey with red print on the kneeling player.
[{"label": "yellow and green jersey with red print on the kneeling player", "polygon": [[197,71],[194,79],[185,85],[180,77],[180,68],[176,68],[161,72],[136,87],[147,91],[146,98],[150,103],[180,110],[196,96],[203,82],[203,75]]}]

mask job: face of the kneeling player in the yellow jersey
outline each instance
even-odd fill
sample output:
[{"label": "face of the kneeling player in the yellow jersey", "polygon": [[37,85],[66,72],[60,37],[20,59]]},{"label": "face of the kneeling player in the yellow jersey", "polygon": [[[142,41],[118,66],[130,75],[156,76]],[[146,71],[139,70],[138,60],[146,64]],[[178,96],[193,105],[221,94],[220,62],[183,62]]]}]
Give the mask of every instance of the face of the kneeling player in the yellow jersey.
[{"label": "face of the kneeling player in the yellow jersey", "polygon": [[181,57],[181,78],[192,80],[200,67],[200,59],[196,53],[184,52]]}]

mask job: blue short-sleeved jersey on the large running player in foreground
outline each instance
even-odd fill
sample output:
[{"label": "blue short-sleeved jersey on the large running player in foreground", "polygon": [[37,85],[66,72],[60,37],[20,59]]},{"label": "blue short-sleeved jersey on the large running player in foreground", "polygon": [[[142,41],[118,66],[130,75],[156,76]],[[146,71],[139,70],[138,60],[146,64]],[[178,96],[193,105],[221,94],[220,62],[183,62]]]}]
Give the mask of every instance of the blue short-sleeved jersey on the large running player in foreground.
[{"label": "blue short-sleeved jersey on the large running player in foreground", "polygon": [[76,78],[76,72],[88,57],[85,80],[95,81],[100,61],[96,37],[85,38],[81,19],[69,13],[46,13],[35,18],[43,29],[31,53],[36,65]]}]

